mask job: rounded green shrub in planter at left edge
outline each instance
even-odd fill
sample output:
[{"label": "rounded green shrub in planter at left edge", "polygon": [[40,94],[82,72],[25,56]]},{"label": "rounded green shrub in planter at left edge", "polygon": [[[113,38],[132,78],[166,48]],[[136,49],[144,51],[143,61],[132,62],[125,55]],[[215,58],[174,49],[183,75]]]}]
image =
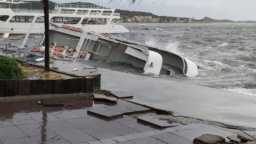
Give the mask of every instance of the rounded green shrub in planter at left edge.
[{"label": "rounded green shrub in planter at left edge", "polygon": [[0,57],[0,79],[22,79],[23,71],[19,63],[9,57]]}]

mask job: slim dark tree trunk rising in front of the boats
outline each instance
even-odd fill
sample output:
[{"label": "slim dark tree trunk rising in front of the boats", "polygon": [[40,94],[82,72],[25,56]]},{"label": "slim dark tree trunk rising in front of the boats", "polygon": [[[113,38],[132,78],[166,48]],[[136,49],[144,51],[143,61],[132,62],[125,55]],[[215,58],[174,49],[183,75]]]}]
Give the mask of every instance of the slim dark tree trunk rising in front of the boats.
[{"label": "slim dark tree trunk rising in front of the boats", "polygon": [[44,54],[44,71],[50,70],[49,55],[49,0],[42,0],[44,10],[44,35],[45,35],[45,54]]}]

